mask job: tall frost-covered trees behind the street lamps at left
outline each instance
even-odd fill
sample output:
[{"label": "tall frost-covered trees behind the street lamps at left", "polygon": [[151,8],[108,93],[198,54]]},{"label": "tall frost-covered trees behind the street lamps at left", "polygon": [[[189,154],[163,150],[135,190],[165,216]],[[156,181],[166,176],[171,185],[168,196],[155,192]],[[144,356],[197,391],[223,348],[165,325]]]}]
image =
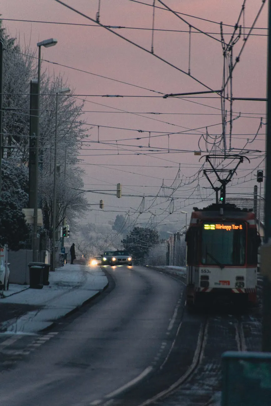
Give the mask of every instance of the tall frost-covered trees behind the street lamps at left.
[{"label": "tall frost-covered trees behind the street lamps at left", "polygon": [[[18,207],[28,206],[29,108],[30,80],[37,78],[37,58],[29,46],[21,50],[20,42],[10,38],[0,20],[0,39],[4,43],[3,66],[3,146],[2,190],[10,191],[11,201]],[[52,200],[54,178],[54,134],[56,128],[56,92],[67,87],[63,76],[50,76],[41,71],[39,120],[39,204],[45,228],[52,236]],[[71,95],[58,97],[57,224],[67,217],[76,225],[76,217],[87,210],[87,199],[74,190],[83,188],[83,171],[78,158],[87,137],[82,120],[84,102]]]}]

